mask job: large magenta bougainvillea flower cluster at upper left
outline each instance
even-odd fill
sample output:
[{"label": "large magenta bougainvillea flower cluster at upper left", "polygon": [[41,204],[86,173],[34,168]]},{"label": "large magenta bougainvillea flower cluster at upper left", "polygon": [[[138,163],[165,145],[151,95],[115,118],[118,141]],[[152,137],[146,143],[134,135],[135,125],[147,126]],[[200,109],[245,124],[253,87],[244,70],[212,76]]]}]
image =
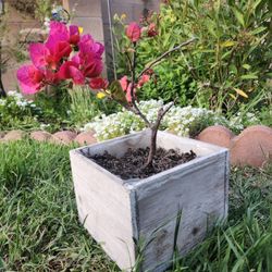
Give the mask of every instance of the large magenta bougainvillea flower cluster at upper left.
[{"label": "large magenta bougainvillea flower cluster at upper left", "polygon": [[[72,54],[77,50],[76,54]],[[79,28],[69,28],[60,22],[50,23],[50,32],[45,44],[29,46],[33,65],[22,66],[17,79],[24,94],[35,94],[44,86],[71,79],[84,85],[86,79],[99,77],[102,70],[104,47],[90,35],[81,37]]]}]

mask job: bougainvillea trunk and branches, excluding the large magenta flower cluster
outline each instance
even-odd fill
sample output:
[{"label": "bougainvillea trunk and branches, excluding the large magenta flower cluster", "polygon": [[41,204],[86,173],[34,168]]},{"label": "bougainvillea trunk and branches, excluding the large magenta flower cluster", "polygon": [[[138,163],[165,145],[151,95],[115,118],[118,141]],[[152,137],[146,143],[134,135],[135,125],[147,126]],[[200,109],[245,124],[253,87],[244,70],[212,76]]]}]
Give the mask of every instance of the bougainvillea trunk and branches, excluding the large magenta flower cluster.
[{"label": "bougainvillea trunk and branches, excluding the large magenta flower cluster", "polygon": [[[143,121],[146,124],[146,127],[151,131],[151,138],[150,138],[150,149],[149,149],[149,156],[146,164],[144,168],[152,166],[152,160],[156,153],[156,147],[157,147],[157,133],[159,129],[159,126],[161,124],[161,121],[163,116],[168,113],[168,111],[171,109],[171,107],[174,104],[174,101],[171,102],[165,108],[160,108],[158,111],[157,120],[152,123],[147,120],[146,115],[140,111],[137,104],[137,92],[139,89],[152,78],[152,67],[160,63],[163,59],[165,59],[168,55],[170,55],[172,52],[180,50],[181,48],[189,45],[195,40],[195,38],[191,38],[173,49],[170,49],[169,51],[161,54],[156,60],[152,60],[148,64],[145,65],[145,69],[136,73],[137,70],[137,42],[143,37],[152,38],[156,36],[157,29],[156,25],[151,23],[148,27],[143,27],[136,23],[131,23],[126,28],[126,36],[131,40],[131,47],[125,50],[125,55],[128,61],[129,72],[131,75],[122,77],[119,82],[113,82],[109,88],[104,88],[104,94],[108,95],[110,98],[114,99],[119,103],[121,103],[125,109],[134,112],[135,114],[139,115]],[[102,86],[101,86],[102,87]]]}]

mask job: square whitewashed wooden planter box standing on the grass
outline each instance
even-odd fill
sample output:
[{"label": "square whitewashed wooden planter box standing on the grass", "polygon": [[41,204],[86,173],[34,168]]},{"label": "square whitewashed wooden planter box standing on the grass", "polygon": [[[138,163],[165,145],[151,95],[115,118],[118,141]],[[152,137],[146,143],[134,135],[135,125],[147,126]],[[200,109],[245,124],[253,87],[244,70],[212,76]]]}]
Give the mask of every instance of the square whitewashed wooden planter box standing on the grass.
[{"label": "square whitewashed wooden planter box standing on the grass", "polygon": [[106,150],[122,156],[146,147],[149,132],[72,150],[71,163],[81,222],[123,270],[134,267],[134,239],[148,243],[143,271],[163,271],[173,257],[176,215],[182,210],[176,245],[186,254],[227,215],[228,151],[202,141],[159,132],[158,146],[194,150],[198,158],[144,180],[123,181],[84,153]]}]

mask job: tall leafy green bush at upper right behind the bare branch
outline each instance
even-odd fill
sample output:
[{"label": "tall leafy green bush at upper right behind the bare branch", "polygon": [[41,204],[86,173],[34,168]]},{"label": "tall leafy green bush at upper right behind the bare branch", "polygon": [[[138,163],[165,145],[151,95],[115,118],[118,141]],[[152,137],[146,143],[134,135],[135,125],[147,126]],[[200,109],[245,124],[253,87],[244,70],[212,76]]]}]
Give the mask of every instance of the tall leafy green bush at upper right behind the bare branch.
[{"label": "tall leafy green bush at upper right behind the bare branch", "polygon": [[[272,7],[269,2],[171,0],[161,5],[159,14],[149,14],[144,24],[156,23],[159,36],[139,44],[138,58],[143,63],[188,37],[196,36],[198,40],[186,54],[181,52],[178,58],[154,69],[160,76],[157,84],[145,86],[145,98],[170,101],[177,96],[182,106],[193,103],[222,111],[250,103],[265,88],[265,79],[271,75]],[[119,34],[120,26],[125,25],[122,16],[115,20]],[[116,48],[126,42],[119,35]],[[124,58],[119,52],[119,74],[127,69]],[[159,73],[160,70],[164,73]]]}]

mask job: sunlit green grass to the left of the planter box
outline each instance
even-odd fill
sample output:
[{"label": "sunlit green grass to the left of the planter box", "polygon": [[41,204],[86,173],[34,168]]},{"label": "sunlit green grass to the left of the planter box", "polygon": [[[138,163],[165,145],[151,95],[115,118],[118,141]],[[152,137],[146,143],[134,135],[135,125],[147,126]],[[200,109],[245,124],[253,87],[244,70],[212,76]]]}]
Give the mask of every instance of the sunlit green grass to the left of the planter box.
[{"label": "sunlit green grass to the left of the planter box", "polygon": [[69,148],[0,145],[0,271],[111,271],[77,220]]}]

